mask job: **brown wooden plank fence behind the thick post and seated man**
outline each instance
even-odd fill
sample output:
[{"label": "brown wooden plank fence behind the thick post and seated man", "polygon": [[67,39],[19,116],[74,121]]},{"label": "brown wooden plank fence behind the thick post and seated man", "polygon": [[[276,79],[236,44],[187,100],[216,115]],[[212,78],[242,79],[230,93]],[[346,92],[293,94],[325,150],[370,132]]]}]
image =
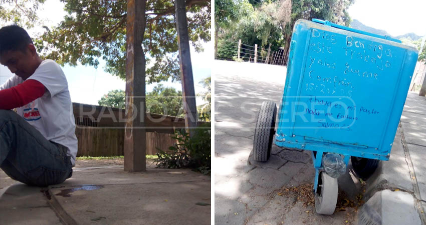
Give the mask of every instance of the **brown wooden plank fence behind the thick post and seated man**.
[{"label": "brown wooden plank fence behind the thick post and seated man", "polygon": [[[124,109],[73,102],[78,139],[77,156],[114,156],[124,154]],[[204,122],[200,122],[204,123]],[[175,129],[185,127],[184,118],[147,113],[145,117],[146,154],[157,148],[167,151],[176,143]]]}]

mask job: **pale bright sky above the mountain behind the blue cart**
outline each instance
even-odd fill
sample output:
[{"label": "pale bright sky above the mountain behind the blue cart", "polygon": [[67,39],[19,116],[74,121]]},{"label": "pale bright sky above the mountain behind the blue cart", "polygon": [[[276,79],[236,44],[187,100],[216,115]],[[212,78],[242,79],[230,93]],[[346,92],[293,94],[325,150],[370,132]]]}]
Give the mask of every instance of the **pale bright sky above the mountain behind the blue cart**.
[{"label": "pale bright sky above the mountain behind the blue cart", "polygon": [[352,19],[392,36],[410,32],[424,36],[424,8],[426,0],[355,0],[348,12]]}]

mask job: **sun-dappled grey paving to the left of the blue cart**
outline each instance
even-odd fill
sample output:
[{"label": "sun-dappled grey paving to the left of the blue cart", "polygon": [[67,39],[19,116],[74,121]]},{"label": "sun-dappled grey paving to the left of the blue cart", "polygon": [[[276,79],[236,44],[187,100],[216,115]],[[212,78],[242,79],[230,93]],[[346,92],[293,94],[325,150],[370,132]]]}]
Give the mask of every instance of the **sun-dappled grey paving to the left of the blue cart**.
[{"label": "sun-dappled grey paving to the left of the blue cart", "polygon": [[276,194],[313,182],[310,151],[273,145],[267,162],[251,156],[256,114],[264,100],[279,107],[286,67],[215,60],[215,68],[215,224],[355,224],[353,208],[320,215]]}]

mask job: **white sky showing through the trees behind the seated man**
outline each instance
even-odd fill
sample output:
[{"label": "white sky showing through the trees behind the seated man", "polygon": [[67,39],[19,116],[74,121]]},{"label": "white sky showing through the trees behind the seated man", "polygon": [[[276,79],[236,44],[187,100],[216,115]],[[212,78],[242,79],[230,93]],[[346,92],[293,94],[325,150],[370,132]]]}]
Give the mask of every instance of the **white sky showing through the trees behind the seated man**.
[{"label": "white sky showing through the trees behind the seated man", "polygon": [[[64,15],[66,15],[63,8],[64,3],[59,0],[46,0],[38,15],[40,19],[45,20],[45,24],[48,26],[56,25],[62,21]],[[28,32],[30,36],[33,37],[36,33],[42,32],[42,30],[41,27],[35,27],[28,30]],[[190,51],[195,93],[206,91],[199,82],[211,74],[210,62],[212,60],[211,55],[213,55],[212,42],[203,43],[203,48],[203,52],[197,53],[191,46]],[[97,69],[93,66],[84,66],[81,64],[76,67],[70,65],[62,67],[68,80],[68,88],[73,102],[97,105],[98,100],[101,99],[104,94],[108,93],[109,90],[125,90],[125,80],[105,72],[103,69],[105,61],[102,58],[100,58],[99,61],[100,64]],[[0,82],[3,83],[9,76],[12,76],[12,73],[10,73],[6,67],[0,66]],[[164,86],[171,86],[177,90],[182,90],[180,82],[171,82],[171,80],[169,80],[160,83]],[[158,83],[147,84],[146,91],[152,91],[152,88],[157,84]],[[200,98],[197,98],[196,101],[197,105],[205,103]]]}]

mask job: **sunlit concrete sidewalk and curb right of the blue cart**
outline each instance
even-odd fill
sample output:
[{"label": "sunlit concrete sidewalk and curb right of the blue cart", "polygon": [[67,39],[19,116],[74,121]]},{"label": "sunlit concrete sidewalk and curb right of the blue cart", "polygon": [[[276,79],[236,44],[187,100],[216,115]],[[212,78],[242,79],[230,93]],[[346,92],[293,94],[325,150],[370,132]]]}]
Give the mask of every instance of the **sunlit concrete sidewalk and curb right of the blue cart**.
[{"label": "sunlit concrete sidewalk and curb right of the blue cart", "polygon": [[389,161],[381,161],[366,184],[366,205],[382,208],[382,224],[426,224],[425,153],[426,97],[408,92]]}]

